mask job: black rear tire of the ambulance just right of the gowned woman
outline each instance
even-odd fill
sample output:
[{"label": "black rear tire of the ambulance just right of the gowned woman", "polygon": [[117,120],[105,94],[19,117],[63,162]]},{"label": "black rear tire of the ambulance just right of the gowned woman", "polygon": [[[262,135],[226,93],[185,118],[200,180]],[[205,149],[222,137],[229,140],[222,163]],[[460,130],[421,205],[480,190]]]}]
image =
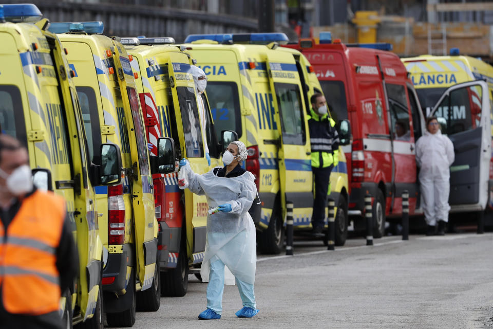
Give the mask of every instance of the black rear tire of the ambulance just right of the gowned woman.
[{"label": "black rear tire of the ambulance just right of the gowned woman", "polygon": [[285,231],[280,215],[281,209],[279,203],[275,203],[272,210],[271,220],[267,230],[259,234],[259,247],[263,254],[279,254],[282,251],[285,239]]}]

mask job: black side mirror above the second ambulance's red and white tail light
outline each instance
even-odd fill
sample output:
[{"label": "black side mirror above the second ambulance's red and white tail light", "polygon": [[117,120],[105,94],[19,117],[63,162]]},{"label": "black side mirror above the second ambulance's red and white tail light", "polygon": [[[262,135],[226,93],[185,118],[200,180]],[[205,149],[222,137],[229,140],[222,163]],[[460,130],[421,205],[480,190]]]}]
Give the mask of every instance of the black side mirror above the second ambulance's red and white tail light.
[{"label": "black side mirror above the second ambulance's red and white tail light", "polygon": [[117,144],[101,144],[100,184],[116,185],[122,180],[122,155]]}]

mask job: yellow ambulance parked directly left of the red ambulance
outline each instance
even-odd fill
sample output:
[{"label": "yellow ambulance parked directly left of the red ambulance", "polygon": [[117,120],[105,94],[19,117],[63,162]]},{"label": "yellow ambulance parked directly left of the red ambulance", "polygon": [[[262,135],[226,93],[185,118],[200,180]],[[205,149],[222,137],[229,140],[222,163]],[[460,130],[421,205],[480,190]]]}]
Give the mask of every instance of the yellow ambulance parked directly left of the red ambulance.
[{"label": "yellow ambulance parked directly left of the red ambulance", "polygon": [[[256,177],[261,204],[250,214],[263,253],[283,245],[286,201],[294,203],[294,227],[311,227],[313,178],[307,113],[310,97],[322,93],[308,60],[297,50],[278,48],[283,33],[195,34],[184,46],[207,75],[207,97],[216,134],[235,131],[247,145],[245,169]],[[344,137],[344,136],[343,136]],[[349,136],[347,141],[349,142]],[[346,159],[331,175],[339,237],[347,235]],[[342,242],[344,244],[344,242]]]}]

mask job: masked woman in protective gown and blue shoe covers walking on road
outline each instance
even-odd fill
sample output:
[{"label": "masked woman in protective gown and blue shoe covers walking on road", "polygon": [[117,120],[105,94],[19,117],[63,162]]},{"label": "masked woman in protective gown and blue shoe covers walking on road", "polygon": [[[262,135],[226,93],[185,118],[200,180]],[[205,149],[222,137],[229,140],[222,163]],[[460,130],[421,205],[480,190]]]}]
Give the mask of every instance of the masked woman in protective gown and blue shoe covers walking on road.
[{"label": "masked woman in protective gown and blue shoe covers walking on road", "polygon": [[235,141],[224,151],[224,167],[198,175],[185,159],[179,163],[180,171],[188,178],[185,187],[205,195],[209,207],[205,254],[200,269],[202,280],[208,281],[207,308],[200,313],[201,320],[221,318],[224,284],[234,285],[235,281],[243,302],[243,308],[236,316],[251,318],[258,313],[254,296],[255,225],[248,213],[257,188],[253,174],[240,166],[245,159],[247,148],[242,142]]}]

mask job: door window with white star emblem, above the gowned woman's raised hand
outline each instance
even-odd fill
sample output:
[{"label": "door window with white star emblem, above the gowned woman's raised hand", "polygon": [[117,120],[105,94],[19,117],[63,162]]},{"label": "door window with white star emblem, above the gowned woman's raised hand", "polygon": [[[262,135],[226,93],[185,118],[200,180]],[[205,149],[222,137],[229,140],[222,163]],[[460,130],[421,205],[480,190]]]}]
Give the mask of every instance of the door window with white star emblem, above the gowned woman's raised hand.
[{"label": "door window with white star emblem, above the gowned woman's raised hand", "polygon": [[195,89],[177,87],[176,93],[178,94],[181,122],[183,123],[186,156],[189,158],[201,158],[204,156],[204,150]]}]

